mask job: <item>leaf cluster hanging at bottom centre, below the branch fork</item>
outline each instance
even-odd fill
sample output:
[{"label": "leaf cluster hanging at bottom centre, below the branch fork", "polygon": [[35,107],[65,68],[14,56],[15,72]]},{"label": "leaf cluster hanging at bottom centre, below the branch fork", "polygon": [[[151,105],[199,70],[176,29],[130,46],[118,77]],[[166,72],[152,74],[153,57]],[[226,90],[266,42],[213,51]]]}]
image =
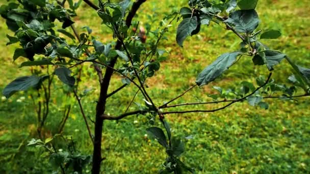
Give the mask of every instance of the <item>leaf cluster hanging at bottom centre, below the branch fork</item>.
[{"label": "leaf cluster hanging at bottom centre, below the branch fork", "polygon": [[[164,131],[159,127],[147,128],[147,132],[152,135],[156,140],[166,149],[168,157],[163,163],[164,169],[161,169],[159,173],[182,173],[184,171],[190,171],[195,173],[195,170],[185,165],[179,157],[185,152],[185,144],[182,139],[178,139],[171,136],[171,127],[165,120],[161,121],[167,132],[168,139]],[[191,138],[186,137],[186,139]]]}]

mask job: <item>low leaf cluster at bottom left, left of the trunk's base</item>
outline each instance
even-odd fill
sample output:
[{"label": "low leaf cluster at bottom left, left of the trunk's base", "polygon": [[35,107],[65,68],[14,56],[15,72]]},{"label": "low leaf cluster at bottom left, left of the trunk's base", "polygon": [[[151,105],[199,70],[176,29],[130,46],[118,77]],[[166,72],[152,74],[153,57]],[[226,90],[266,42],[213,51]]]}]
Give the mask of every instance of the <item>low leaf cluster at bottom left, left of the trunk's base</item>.
[{"label": "low leaf cluster at bottom left, left of the trunk's base", "polygon": [[[67,144],[68,151],[63,149],[56,149],[54,139],[61,137]],[[57,140],[57,143],[60,141]],[[77,152],[74,147],[74,142],[70,136],[62,136],[56,134],[54,137],[46,138],[44,142],[41,139],[31,139],[27,146],[35,146],[37,148],[43,148],[46,153],[43,153],[43,157],[49,158],[49,163],[55,168],[55,172],[61,166],[62,172],[82,173],[83,169],[91,162],[90,155],[83,155]],[[45,156],[44,156],[45,155]]]}]

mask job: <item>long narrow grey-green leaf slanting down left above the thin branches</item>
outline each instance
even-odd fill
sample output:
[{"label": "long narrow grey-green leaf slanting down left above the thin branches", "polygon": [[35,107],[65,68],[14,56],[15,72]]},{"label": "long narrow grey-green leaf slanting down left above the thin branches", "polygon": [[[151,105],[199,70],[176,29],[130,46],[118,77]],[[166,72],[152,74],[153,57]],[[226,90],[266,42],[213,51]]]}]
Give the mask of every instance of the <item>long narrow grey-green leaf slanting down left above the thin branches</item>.
[{"label": "long narrow grey-green leaf slanting down left above the thin branches", "polygon": [[210,83],[223,74],[237,59],[240,52],[222,54],[215,62],[206,67],[197,77],[196,83],[199,86]]}]

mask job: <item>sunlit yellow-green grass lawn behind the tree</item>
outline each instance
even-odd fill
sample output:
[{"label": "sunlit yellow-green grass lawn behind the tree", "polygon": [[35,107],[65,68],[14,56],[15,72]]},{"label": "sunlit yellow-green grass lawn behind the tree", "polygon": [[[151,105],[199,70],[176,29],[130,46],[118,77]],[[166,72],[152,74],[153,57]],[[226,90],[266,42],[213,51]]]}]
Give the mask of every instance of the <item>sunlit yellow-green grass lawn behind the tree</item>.
[{"label": "sunlit yellow-green grass lawn behind the tree", "polygon": [[[165,12],[179,9],[187,1],[149,1],[143,4],[138,15],[142,25],[152,24],[156,29]],[[2,0],[1,4],[6,3]],[[168,5],[163,5],[164,3]],[[262,23],[260,28],[280,29],[282,37],[266,41],[272,49],[278,49],[304,67],[310,65],[310,16],[308,1],[261,1],[257,7]],[[78,11],[75,26],[81,33],[82,26],[88,25],[93,29],[93,36],[98,40],[112,40],[109,29],[99,25],[100,19],[96,12],[87,6]],[[156,20],[150,22],[147,15]],[[135,18],[138,20],[138,18]],[[0,36],[5,38],[7,30],[5,21],[0,20]],[[167,60],[161,64],[156,76],[149,79],[148,93],[154,102],[161,104],[182,93],[194,84],[196,75],[217,56],[227,51],[234,51],[239,44],[237,37],[226,32],[220,26],[202,28],[197,36],[188,38],[184,48],[175,42],[177,23],[173,22],[166,36],[168,40],[161,42],[159,48],[168,50]],[[152,38],[149,37],[149,40]],[[2,69],[0,74],[0,91],[12,79],[21,75],[30,75],[28,68],[17,68],[22,60],[12,63],[14,48],[6,47],[6,41],[0,42],[0,57]],[[229,69],[220,79],[201,89],[196,88],[173,103],[210,101],[208,94],[216,93],[213,85],[223,88],[238,88],[242,81],[254,81],[260,74],[267,76],[266,67],[253,67],[250,59],[242,59],[236,66]],[[292,69],[286,61],[276,66],[273,78],[277,82],[286,82],[292,74]],[[117,75],[111,84],[110,91],[121,85]],[[64,134],[72,135],[76,148],[84,154],[91,154],[92,144],[89,140],[86,126],[79,106],[71,98],[62,94],[61,83],[57,82],[52,98],[50,114],[47,119],[47,136],[55,133],[62,117],[66,103],[73,105]],[[83,68],[80,89],[98,89],[96,74],[91,65]],[[124,112],[136,88],[130,86],[108,100],[107,112],[120,114]],[[0,167],[1,173],[50,173],[53,168],[47,158],[40,158],[42,151],[25,144],[35,137],[36,116],[30,93],[18,93],[0,104]],[[83,98],[82,103],[87,115],[94,118],[95,101],[98,90]],[[21,96],[25,99],[17,102]],[[135,100],[142,102],[142,95]],[[197,173],[307,173],[310,172],[310,110],[308,98],[298,101],[267,100],[268,110],[249,106],[246,102],[238,103],[225,110],[215,113],[191,113],[183,115],[168,115],[173,136],[184,137],[194,135],[186,142],[186,153],[182,157],[185,163],[194,167]],[[184,109],[211,109],[219,105],[184,107]],[[135,110],[132,105],[130,110]],[[182,108],[183,109],[183,108]],[[136,122],[135,122],[136,121]],[[160,145],[145,137],[147,119],[143,116],[130,117],[119,122],[105,122],[102,138],[102,156],[107,157],[102,162],[103,173],[156,173],[165,160],[165,152]],[[91,130],[94,125],[91,124]],[[156,125],[159,125],[158,123]],[[59,145],[62,147],[62,145]],[[90,167],[87,168],[90,170]]]}]

